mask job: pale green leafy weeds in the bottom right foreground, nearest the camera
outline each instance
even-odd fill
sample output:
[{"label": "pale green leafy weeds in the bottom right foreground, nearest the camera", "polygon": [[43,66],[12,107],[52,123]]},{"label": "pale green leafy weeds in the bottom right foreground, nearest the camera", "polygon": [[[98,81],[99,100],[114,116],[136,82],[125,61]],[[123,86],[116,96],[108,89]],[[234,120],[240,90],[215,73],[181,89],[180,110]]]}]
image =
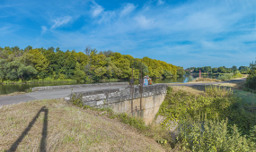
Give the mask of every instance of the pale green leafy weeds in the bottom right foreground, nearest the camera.
[{"label": "pale green leafy weeds in the bottom right foreground, nearest the camera", "polygon": [[242,136],[238,128],[230,128],[227,120],[180,121],[178,141],[184,151],[255,151],[255,143]]}]

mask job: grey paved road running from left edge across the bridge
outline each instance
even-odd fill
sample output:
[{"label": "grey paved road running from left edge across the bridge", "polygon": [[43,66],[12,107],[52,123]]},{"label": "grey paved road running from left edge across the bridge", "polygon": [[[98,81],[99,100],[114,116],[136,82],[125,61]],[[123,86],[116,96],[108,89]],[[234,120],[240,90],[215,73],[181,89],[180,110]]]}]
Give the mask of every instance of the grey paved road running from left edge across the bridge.
[{"label": "grey paved road running from left edge across the bridge", "polygon": [[[96,89],[119,89],[125,86],[108,86],[108,87],[92,87],[92,88],[75,88],[73,92],[80,91],[91,91]],[[0,97],[0,106],[11,105],[20,102],[28,102],[32,100],[42,100],[42,99],[53,99],[66,97],[71,94],[72,89],[55,89],[55,90],[45,90],[45,91],[35,91],[27,93],[25,95]]]}]

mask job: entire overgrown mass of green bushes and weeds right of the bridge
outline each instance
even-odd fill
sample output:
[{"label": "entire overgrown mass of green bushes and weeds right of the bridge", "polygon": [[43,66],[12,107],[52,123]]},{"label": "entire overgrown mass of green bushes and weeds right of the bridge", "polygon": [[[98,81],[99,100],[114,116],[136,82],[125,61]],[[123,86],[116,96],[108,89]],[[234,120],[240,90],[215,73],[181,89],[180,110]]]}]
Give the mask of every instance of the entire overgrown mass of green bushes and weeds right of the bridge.
[{"label": "entire overgrown mass of green bushes and weeds right of the bridge", "polygon": [[[206,86],[204,94],[168,88],[158,112],[166,118],[163,130],[169,129],[170,122],[179,121],[176,144],[185,151],[256,150],[256,97],[249,99],[244,93],[218,86]],[[207,119],[200,120],[200,114]]]}]

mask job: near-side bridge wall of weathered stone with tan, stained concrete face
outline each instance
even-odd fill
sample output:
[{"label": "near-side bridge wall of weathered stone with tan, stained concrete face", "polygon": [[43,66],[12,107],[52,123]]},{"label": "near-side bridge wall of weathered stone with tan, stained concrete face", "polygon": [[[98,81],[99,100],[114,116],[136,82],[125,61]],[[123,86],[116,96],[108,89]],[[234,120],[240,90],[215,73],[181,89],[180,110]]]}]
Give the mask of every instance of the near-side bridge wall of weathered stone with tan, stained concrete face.
[{"label": "near-side bridge wall of weathered stone with tan, stained concrete face", "polygon": [[[131,112],[131,89],[101,89],[96,91],[75,92],[75,97],[82,97],[84,106],[95,106],[98,108],[110,107],[116,113],[127,113],[142,117],[146,124],[154,120],[159,107],[166,94],[166,84],[155,84],[143,87],[142,102],[140,104],[140,91],[134,89],[133,112]],[[66,100],[70,99],[66,97]],[[141,106],[141,109],[140,109]]]}]

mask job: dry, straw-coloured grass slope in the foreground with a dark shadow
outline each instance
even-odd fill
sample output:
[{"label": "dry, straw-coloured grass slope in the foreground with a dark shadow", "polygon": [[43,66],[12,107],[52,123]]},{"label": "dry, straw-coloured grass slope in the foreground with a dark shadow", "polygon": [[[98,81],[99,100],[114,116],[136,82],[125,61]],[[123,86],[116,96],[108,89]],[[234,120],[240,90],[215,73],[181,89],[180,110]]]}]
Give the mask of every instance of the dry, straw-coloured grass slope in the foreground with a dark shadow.
[{"label": "dry, straw-coloured grass slope in the foreground with a dark shadow", "polygon": [[[0,151],[11,148],[33,119],[16,151],[40,151],[42,137],[46,137],[42,142],[46,151],[164,151],[154,139],[127,124],[57,99],[0,106]],[[47,134],[42,135],[43,131]]]}]

